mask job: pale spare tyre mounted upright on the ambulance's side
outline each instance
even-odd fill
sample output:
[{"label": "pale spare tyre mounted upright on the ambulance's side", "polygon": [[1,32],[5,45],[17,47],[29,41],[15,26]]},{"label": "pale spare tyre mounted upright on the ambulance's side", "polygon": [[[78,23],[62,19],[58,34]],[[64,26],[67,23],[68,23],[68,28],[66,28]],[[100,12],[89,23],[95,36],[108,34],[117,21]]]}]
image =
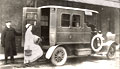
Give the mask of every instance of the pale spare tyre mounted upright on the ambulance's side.
[{"label": "pale spare tyre mounted upright on the ambulance's side", "polygon": [[[96,49],[95,46],[94,46],[94,42],[95,42],[95,39],[100,39],[100,46]],[[91,48],[94,52],[99,52],[101,49],[102,49],[102,44],[103,44],[103,40],[102,40],[102,37],[101,36],[98,36],[98,35],[95,35],[92,40],[91,40]]]}]

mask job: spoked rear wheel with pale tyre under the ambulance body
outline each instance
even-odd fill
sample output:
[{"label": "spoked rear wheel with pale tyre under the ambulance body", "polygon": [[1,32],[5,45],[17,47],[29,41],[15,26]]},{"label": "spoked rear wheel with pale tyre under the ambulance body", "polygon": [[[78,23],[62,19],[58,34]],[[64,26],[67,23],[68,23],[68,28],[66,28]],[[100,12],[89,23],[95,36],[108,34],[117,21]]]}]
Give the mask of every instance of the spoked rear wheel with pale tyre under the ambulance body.
[{"label": "spoked rear wheel with pale tyre under the ambulance body", "polygon": [[51,62],[54,65],[63,65],[67,60],[67,52],[63,47],[57,47],[52,54]]}]

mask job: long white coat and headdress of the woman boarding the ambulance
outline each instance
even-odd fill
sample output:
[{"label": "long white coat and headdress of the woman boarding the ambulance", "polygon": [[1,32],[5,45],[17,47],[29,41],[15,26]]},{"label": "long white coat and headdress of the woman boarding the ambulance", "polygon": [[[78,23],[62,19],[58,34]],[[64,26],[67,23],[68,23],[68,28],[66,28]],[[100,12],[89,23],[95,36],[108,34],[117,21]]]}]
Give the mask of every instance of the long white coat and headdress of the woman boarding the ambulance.
[{"label": "long white coat and headdress of the woman boarding the ambulance", "polygon": [[41,47],[35,44],[35,41],[39,37],[37,35],[32,34],[31,30],[32,26],[29,26],[25,33],[24,52],[29,48],[30,50],[32,50],[32,55],[26,56],[24,54],[24,63],[34,62],[43,55],[43,50],[41,49]]}]

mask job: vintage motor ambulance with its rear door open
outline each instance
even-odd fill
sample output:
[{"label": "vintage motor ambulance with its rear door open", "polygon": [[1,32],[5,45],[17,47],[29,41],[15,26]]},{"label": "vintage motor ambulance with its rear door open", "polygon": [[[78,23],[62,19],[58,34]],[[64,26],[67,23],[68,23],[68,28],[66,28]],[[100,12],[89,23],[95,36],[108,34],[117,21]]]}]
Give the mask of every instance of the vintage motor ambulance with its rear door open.
[{"label": "vintage motor ambulance with its rear door open", "polygon": [[99,13],[94,10],[63,6],[24,7],[22,43],[24,44],[25,25],[36,21],[36,32],[42,38],[45,57],[54,65],[65,64],[69,57],[96,53],[105,53],[111,59],[115,55],[116,43],[110,41],[109,45],[104,44],[102,35],[97,32],[94,35],[91,27],[85,23],[85,16],[97,14]]}]

